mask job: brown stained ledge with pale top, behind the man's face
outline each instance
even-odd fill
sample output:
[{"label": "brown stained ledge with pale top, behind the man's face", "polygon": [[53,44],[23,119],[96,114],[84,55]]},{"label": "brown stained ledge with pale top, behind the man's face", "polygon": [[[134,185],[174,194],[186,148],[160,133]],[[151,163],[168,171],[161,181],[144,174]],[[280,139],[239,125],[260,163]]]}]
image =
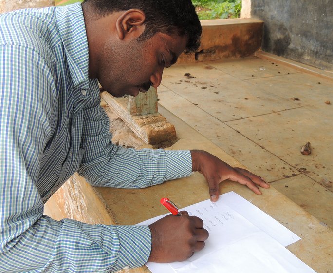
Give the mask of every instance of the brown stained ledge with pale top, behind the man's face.
[{"label": "brown stained ledge with pale top, behind the man's face", "polygon": [[182,54],[177,63],[211,61],[253,55],[261,47],[263,21],[257,19],[201,20],[201,45],[194,54]]}]

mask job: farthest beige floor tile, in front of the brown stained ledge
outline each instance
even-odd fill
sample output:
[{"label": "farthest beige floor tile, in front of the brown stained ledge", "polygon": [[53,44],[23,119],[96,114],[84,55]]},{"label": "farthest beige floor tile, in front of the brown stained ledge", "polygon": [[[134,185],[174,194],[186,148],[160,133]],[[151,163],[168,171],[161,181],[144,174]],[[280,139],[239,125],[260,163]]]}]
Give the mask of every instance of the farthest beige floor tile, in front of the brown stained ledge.
[{"label": "farthest beige floor tile, in front of the brown stained ledge", "polygon": [[258,57],[226,59],[209,65],[240,79],[264,78],[298,73],[297,70]]}]

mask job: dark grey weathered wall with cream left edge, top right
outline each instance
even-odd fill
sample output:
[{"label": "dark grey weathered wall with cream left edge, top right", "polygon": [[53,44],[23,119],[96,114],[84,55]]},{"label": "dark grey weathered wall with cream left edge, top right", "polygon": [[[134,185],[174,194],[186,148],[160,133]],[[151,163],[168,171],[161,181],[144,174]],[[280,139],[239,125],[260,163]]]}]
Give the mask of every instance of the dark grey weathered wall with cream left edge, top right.
[{"label": "dark grey weathered wall with cream left edge, top right", "polygon": [[243,0],[242,17],[264,21],[264,51],[333,71],[333,0]]}]

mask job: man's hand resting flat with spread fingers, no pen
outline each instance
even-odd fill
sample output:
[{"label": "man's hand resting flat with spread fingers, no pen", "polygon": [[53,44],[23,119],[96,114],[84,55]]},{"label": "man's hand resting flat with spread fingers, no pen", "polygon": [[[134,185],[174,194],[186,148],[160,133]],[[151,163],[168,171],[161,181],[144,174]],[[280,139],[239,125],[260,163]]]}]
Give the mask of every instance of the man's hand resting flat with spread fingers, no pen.
[{"label": "man's hand resting flat with spread fingers, no pen", "polygon": [[[219,198],[219,184],[224,180],[231,180],[246,185],[257,195],[261,195],[258,186],[269,188],[263,178],[242,168],[233,168],[216,156],[201,150],[192,150],[192,171],[198,171],[206,178],[209,186],[210,200]],[[258,186],[257,186],[258,185]]]}]

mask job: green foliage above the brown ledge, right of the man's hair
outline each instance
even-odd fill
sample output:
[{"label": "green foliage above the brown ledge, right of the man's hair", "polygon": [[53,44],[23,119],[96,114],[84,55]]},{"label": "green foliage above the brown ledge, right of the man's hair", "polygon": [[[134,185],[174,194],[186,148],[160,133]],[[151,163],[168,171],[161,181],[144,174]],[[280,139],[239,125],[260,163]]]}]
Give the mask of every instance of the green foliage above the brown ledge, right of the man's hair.
[{"label": "green foliage above the brown ledge, right of the man's hair", "polygon": [[240,17],[241,0],[192,0],[199,19]]}]

